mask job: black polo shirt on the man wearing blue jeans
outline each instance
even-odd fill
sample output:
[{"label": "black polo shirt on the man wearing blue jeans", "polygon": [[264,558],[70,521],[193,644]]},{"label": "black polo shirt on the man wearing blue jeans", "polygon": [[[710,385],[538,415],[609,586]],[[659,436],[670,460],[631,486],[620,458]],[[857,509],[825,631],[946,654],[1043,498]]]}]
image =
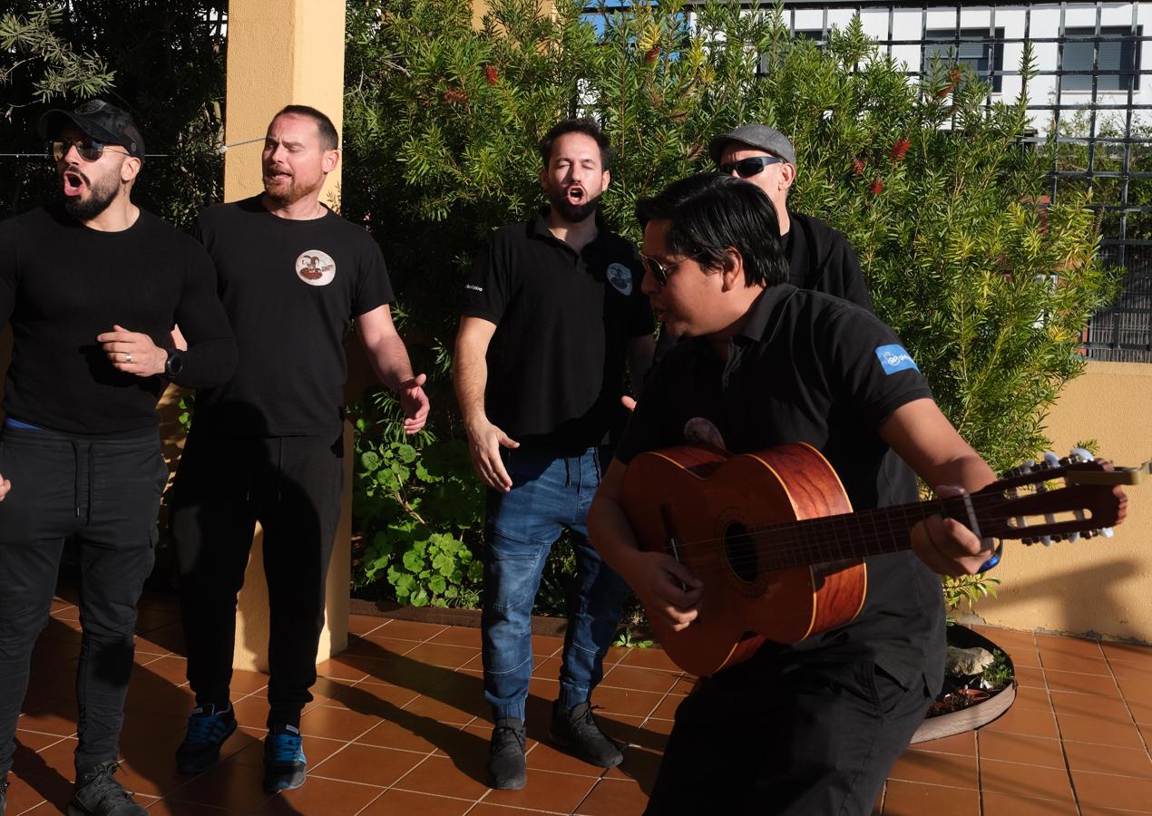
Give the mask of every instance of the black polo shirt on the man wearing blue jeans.
[{"label": "black polo shirt on the man wearing blue jeans", "polygon": [[497,325],[484,406],[522,444],[575,453],[612,441],[628,341],[652,334],[636,247],[602,226],[576,252],[540,214],[497,230],[464,285],[463,313]]}]

